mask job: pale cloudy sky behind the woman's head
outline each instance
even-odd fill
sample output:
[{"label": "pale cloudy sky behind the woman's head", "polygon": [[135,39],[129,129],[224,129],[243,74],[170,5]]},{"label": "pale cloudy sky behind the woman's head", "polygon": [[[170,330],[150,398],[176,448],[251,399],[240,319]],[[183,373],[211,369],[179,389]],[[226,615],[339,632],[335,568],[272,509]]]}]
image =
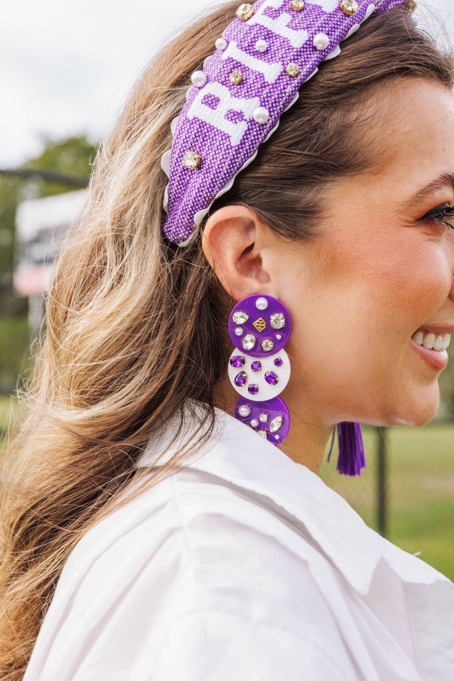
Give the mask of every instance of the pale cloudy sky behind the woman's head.
[{"label": "pale cloudy sky behind the woman's head", "polygon": [[[86,134],[95,142],[108,134],[152,55],[210,4],[207,0],[3,3],[0,168],[14,168],[38,155],[47,138]],[[453,0],[418,0],[414,16],[438,33],[431,10],[454,43]]]}]

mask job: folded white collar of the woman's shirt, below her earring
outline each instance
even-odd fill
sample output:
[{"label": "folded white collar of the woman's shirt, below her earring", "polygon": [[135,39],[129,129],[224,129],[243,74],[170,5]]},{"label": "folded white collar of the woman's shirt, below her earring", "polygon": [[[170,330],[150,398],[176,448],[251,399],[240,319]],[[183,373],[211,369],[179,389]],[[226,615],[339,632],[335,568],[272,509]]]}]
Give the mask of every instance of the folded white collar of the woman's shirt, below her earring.
[{"label": "folded white collar of the woman's shirt, below her earring", "polygon": [[[171,419],[152,436],[137,467],[162,465],[187,439],[200,434],[197,402],[184,407],[184,426]],[[447,577],[384,539],[303,464],[260,437],[252,428],[214,408],[212,437],[184,466],[221,477],[262,494],[302,522],[312,540],[359,593],[366,595],[381,559],[405,582],[432,584]],[[165,449],[167,448],[167,452]],[[164,454],[162,454],[164,452]]]}]

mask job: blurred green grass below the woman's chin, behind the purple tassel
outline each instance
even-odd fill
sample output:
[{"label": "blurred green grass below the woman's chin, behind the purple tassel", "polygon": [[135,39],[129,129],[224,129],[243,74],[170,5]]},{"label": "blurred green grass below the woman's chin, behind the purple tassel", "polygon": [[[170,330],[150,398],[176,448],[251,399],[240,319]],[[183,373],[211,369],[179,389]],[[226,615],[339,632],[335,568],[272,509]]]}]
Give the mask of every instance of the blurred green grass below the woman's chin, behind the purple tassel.
[{"label": "blurred green grass below the woman's chin, behind the purple tassel", "polygon": [[[346,498],[372,528],[376,522],[376,443],[373,428],[363,426],[366,469],[357,477],[336,471],[337,436],[331,461],[320,476]],[[454,581],[454,424],[387,429],[386,537]],[[327,449],[327,452],[329,448]]]}]

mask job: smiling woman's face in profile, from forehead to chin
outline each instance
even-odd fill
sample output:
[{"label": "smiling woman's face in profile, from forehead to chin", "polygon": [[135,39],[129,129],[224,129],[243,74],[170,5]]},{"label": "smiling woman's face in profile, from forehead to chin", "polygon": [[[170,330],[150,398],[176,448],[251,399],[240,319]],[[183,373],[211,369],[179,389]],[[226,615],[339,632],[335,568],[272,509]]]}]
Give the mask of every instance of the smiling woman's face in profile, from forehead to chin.
[{"label": "smiling woman's face in profile, from forehead to chin", "polygon": [[[454,187],[422,192],[454,176],[454,97],[419,78],[387,84],[382,95],[378,163],[332,185],[326,236],[279,247],[271,267],[270,293],[292,318],[282,398],[326,424],[427,423],[447,353],[421,349],[412,336],[454,332],[454,229],[440,222]],[[438,219],[423,220],[436,208]],[[454,225],[454,215],[445,219]]]}]

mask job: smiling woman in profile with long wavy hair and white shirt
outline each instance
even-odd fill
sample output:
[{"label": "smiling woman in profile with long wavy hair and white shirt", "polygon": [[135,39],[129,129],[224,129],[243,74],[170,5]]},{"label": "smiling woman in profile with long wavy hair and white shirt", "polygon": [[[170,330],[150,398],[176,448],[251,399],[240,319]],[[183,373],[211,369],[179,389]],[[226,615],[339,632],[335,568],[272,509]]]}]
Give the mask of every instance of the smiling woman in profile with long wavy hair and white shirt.
[{"label": "smiling woman in profile with long wavy hair and white shirt", "polygon": [[[454,678],[452,582],[317,475],[341,423],[436,413],[454,330],[453,58],[417,29],[414,3],[264,4],[242,5],[246,19],[238,3],[204,12],[99,151],[3,455],[2,679]],[[176,202],[185,169],[168,151],[191,74],[203,88],[234,22],[290,30],[281,10],[306,12],[318,72],[299,99],[287,81],[279,126],[204,197],[208,212],[191,204],[199,227],[172,223],[187,195]],[[233,176],[230,160],[210,177]],[[228,321],[250,296],[291,317],[280,444],[244,422],[227,380]],[[361,443],[352,452],[360,469]]]}]

